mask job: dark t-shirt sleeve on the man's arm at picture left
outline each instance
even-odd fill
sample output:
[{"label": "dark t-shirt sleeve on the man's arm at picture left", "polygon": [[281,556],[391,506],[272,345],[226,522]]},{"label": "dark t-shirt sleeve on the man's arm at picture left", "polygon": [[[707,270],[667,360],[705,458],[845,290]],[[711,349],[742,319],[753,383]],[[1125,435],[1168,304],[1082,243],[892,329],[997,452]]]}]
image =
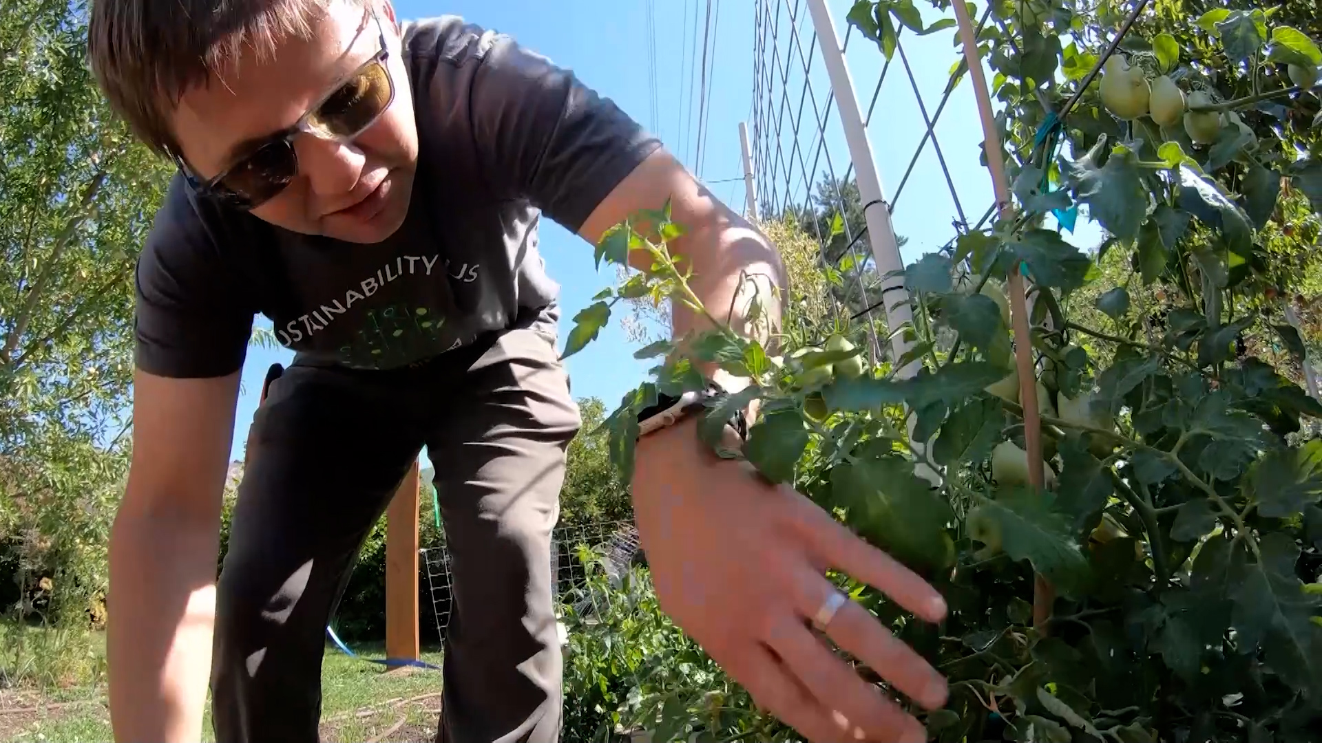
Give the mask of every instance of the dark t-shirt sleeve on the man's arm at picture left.
[{"label": "dark t-shirt sleeve on the man's arm at picture left", "polygon": [[254,312],[234,267],[222,259],[219,241],[231,237],[204,221],[176,176],[137,259],[134,333],[139,369],[198,378],[243,368]]}]

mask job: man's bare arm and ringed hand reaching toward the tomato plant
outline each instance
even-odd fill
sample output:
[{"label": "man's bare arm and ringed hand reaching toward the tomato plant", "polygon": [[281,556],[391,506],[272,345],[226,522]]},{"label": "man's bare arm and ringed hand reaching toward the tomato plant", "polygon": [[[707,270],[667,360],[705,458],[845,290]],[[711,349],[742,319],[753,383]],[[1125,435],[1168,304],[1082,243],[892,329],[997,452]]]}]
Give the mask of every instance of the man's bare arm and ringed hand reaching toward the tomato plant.
[{"label": "man's bare arm and ringed hand reaching toward the tomato plant", "polygon": [[[668,198],[672,219],[685,229],[672,254],[691,270],[693,292],[717,321],[765,341],[779,327],[787,288],[776,249],[665,151],[625,177],[579,234],[596,243]],[[650,260],[641,251],[637,258]],[[750,321],[755,299],[761,309]],[[676,338],[711,323],[677,301],[672,317]],[[727,389],[748,383],[713,378]],[[738,448],[739,442],[727,444]],[[917,719],[859,677],[809,623],[895,689],[939,707],[944,678],[862,606],[842,600],[824,572],[849,574],[937,621],[945,603],[932,586],[793,488],[771,485],[744,461],[717,457],[699,442],[693,419],[639,442],[632,490],[661,607],[760,706],[813,742],[927,739]]]}]

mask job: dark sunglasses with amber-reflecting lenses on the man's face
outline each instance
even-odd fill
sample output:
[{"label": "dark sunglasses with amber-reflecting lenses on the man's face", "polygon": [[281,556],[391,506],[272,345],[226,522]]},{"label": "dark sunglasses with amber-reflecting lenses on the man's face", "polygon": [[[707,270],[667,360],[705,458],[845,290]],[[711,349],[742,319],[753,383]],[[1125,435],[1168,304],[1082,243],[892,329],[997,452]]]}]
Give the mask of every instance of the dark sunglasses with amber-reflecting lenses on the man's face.
[{"label": "dark sunglasses with amber-reflecting lenses on the man's face", "polygon": [[201,180],[175,155],[184,177],[200,194],[217,198],[239,209],[255,209],[278,196],[299,172],[299,156],[293,151],[293,137],[307,132],[312,136],[346,143],[361,135],[390,108],[395,99],[395,85],[390,79],[386,59],[386,32],[377,21],[381,49],[334,90],[308,110],[292,127],[271,135],[256,149],[226,168],[214,178]]}]

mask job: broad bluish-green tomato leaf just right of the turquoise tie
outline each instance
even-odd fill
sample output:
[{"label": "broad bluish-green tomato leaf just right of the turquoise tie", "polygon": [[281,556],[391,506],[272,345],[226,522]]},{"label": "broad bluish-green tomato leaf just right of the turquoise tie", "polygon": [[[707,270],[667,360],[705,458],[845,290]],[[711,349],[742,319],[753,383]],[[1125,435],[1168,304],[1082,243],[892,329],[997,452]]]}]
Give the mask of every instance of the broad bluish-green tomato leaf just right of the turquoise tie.
[{"label": "broad bluish-green tomato leaf just right of the turquoise tie", "polygon": [[1097,164],[1105,144],[1103,136],[1083,159],[1062,159],[1060,173],[1093,219],[1117,238],[1132,241],[1147,213],[1147,189],[1140,177],[1138,156],[1128,147],[1117,145],[1105,165]]}]

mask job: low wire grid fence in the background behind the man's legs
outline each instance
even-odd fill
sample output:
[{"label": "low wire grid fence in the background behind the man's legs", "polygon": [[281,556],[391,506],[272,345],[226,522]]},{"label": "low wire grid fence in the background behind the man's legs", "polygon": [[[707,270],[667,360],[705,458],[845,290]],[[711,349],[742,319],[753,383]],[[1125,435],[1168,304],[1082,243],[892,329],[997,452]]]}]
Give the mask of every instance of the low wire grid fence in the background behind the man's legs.
[{"label": "low wire grid fence in the background behind the man's legs", "polygon": [[[599,521],[584,525],[561,526],[551,531],[551,591],[557,606],[562,598],[580,596],[576,591],[587,582],[587,568],[578,557],[578,550],[587,547],[596,551],[607,576],[617,583],[633,559],[640,554],[639,531],[632,521]],[[432,617],[436,623],[436,636],[446,637],[446,629],[453,612],[452,555],[442,545],[419,550],[422,570],[431,598]],[[587,602],[587,599],[580,599]],[[575,613],[584,616],[594,611],[590,606],[575,606]]]}]

